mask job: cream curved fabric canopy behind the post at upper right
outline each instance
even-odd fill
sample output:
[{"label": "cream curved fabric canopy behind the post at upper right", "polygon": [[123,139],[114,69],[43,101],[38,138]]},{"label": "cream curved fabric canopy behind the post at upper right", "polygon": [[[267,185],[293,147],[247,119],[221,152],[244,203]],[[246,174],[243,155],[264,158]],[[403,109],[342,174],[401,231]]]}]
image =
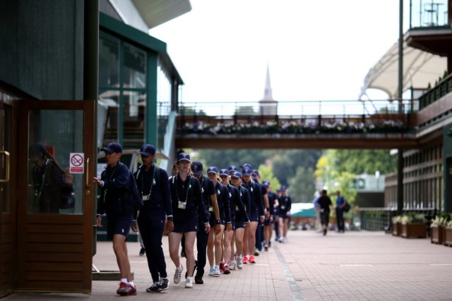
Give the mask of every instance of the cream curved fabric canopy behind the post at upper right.
[{"label": "cream curved fabric canopy behind the post at upper right", "polygon": [[[431,54],[403,43],[403,91],[409,88],[426,89],[447,69],[447,58]],[[378,89],[388,94],[388,99],[396,99],[398,90],[398,42],[369,70],[359,99],[367,89]]]}]

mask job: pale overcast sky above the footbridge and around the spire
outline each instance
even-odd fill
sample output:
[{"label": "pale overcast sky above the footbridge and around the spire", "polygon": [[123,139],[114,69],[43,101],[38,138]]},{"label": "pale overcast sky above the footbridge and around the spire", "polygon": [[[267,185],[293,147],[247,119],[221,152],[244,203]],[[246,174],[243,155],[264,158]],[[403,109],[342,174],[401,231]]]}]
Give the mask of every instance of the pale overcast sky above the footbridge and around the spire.
[{"label": "pale overcast sky above the footbridge and around the spire", "polygon": [[267,63],[278,101],[355,100],[398,39],[396,0],[190,2],[189,13],[150,30],[167,43],[184,102],[258,101]]}]

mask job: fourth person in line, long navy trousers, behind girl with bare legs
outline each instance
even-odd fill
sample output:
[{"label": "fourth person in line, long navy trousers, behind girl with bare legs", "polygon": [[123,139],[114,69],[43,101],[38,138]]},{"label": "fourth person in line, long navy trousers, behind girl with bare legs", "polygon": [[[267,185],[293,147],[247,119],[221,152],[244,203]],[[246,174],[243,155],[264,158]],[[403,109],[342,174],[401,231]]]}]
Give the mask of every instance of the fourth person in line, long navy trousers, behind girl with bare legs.
[{"label": "fourth person in line, long navy trousers, behind girl with bare legs", "polygon": [[[193,176],[198,179],[201,184],[201,192],[203,197],[204,207],[209,209],[209,204],[213,205],[213,212],[206,213],[208,219],[210,216],[215,216],[215,220],[220,219],[220,209],[218,209],[217,195],[215,194],[215,185],[212,180],[208,177],[203,176],[203,164],[200,161],[193,161],[191,163],[191,172]],[[202,229],[204,227],[202,221],[199,223],[199,228]],[[221,227],[220,224],[215,225],[215,233],[220,233]],[[198,261],[196,262],[196,276],[195,283],[203,284],[203,276],[204,276],[204,267],[207,262],[207,241],[209,238],[209,233],[206,231],[198,231],[196,232],[196,249],[198,250]],[[184,249],[184,245],[182,245],[182,249]]]}]

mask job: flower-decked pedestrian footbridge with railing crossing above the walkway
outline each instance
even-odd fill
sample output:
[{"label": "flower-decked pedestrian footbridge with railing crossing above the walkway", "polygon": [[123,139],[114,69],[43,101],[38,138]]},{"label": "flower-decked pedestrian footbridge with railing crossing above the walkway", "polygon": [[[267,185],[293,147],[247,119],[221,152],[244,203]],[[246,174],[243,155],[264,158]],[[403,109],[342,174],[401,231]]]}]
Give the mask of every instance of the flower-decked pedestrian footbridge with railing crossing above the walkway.
[{"label": "flower-decked pedestrian footbridge with railing crossing above the walkway", "polygon": [[176,146],[205,149],[412,149],[411,101],[179,104]]}]

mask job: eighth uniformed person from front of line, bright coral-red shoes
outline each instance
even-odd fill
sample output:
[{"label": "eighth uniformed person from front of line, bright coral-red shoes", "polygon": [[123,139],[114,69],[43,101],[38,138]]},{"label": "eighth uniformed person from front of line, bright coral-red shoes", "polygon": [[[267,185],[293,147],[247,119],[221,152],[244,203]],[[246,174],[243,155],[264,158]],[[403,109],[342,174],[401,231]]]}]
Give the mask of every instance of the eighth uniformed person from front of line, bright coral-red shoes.
[{"label": "eighth uniformed person from front of line, bright coral-red shoes", "polygon": [[251,200],[249,231],[246,231],[244,235],[245,257],[243,259],[243,263],[248,264],[249,262],[251,264],[255,264],[256,260],[254,259],[254,246],[256,245],[256,228],[258,221],[263,223],[265,214],[263,211],[261,188],[254,182],[254,180],[251,180],[251,168],[245,164],[242,169],[242,186],[248,190]]}]

